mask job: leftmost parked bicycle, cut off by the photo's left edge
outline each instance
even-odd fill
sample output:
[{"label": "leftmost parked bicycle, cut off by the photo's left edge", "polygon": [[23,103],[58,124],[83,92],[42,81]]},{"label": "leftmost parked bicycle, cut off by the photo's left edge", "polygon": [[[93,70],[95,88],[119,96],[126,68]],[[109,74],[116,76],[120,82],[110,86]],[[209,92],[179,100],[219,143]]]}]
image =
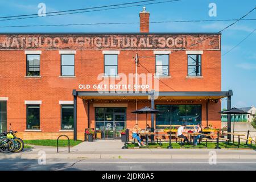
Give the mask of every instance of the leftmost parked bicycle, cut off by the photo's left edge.
[{"label": "leftmost parked bicycle, cut off by the photo's left edge", "polygon": [[2,133],[0,136],[0,152],[10,153],[14,150],[14,136],[10,133]]}]

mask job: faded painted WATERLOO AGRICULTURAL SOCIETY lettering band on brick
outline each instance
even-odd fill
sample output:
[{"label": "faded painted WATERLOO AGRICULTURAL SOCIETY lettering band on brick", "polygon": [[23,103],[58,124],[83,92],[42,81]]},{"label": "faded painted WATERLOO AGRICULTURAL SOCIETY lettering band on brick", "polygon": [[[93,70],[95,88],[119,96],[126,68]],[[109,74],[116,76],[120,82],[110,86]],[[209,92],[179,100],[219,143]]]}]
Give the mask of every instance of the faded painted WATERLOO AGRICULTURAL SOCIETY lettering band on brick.
[{"label": "faded painted WATERLOO AGRICULTURAL SOCIETY lettering band on brick", "polygon": [[[206,39],[206,40],[204,40]],[[204,40],[204,41],[202,41]],[[1,35],[0,49],[220,49],[219,35]],[[196,44],[197,43],[197,44]],[[193,45],[196,44],[196,45]]]}]

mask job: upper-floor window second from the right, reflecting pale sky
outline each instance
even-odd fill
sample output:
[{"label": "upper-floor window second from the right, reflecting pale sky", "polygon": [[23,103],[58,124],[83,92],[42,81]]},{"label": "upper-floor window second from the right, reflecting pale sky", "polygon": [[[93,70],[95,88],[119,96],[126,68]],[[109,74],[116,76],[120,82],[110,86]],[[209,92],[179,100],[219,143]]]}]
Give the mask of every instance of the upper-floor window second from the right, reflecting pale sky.
[{"label": "upper-floor window second from the right, reflecting pale sky", "polygon": [[156,76],[169,76],[169,55],[155,55]]}]

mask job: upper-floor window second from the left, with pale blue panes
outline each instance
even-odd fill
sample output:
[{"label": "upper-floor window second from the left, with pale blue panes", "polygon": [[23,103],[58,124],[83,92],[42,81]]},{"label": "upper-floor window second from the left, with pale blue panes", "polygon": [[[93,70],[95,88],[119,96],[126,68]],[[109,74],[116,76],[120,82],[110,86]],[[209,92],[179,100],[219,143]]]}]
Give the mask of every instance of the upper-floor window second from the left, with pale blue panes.
[{"label": "upper-floor window second from the left, with pale blue panes", "polygon": [[61,55],[61,76],[75,76],[75,55]]}]

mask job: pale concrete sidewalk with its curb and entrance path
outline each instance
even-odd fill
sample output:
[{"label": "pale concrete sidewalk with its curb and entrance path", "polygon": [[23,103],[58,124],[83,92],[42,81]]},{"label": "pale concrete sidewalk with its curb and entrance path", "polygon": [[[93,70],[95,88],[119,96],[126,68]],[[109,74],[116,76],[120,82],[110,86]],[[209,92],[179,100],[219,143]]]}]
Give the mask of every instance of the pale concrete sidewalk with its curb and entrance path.
[{"label": "pale concrete sidewalk with its curb and entrance path", "polygon": [[213,150],[213,149],[121,149],[120,140],[96,140],[95,142],[82,142],[72,147],[33,146],[17,154],[0,154],[0,159],[38,159],[39,151],[46,152],[47,159],[209,159],[215,151],[217,159],[256,159],[254,150]]}]

